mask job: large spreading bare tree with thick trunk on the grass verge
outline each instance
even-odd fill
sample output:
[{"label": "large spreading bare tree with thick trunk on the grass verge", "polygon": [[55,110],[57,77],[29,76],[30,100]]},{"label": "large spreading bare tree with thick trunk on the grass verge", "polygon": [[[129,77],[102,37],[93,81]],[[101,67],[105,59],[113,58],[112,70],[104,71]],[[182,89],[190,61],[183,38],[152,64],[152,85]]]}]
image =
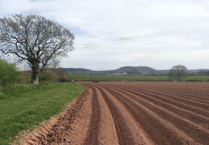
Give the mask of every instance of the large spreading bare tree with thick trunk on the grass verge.
[{"label": "large spreading bare tree with thick trunk on the grass verge", "polygon": [[40,71],[50,62],[73,51],[74,35],[56,22],[38,15],[0,18],[0,52],[14,55],[32,69],[31,82],[38,84]]}]

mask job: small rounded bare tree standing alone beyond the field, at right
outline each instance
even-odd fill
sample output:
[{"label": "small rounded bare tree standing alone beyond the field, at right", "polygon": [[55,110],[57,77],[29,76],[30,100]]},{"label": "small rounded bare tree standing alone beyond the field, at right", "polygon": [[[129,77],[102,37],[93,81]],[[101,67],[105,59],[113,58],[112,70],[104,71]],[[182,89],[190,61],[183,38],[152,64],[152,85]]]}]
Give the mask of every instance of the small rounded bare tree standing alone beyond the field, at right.
[{"label": "small rounded bare tree standing alone beyond the field, at right", "polygon": [[168,76],[169,78],[177,78],[178,81],[180,81],[182,77],[187,77],[187,68],[183,65],[173,66],[169,71]]}]

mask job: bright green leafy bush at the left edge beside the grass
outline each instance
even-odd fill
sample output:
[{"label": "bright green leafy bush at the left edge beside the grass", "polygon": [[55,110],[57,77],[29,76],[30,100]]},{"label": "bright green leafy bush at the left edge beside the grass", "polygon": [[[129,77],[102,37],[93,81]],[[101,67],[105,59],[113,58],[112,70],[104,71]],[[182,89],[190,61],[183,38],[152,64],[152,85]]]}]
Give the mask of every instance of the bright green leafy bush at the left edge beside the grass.
[{"label": "bright green leafy bush at the left edge beside the grass", "polygon": [[6,87],[11,87],[17,83],[19,78],[19,72],[14,63],[8,63],[4,59],[0,59],[0,87],[1,90]]}]

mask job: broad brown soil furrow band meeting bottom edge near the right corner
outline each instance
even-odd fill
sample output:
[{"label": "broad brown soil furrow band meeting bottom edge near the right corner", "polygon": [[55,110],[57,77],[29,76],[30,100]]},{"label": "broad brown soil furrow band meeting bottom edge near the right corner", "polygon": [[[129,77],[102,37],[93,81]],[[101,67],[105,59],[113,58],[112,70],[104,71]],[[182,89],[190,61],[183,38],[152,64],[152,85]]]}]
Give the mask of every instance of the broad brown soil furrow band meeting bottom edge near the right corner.
[{"label": "broad brown soil furrow band meeting bottom edge near the right corner", "polygon": [[186,142],[198,144],[128,96],[110,89],[107,90],[124,104],[155,144],[185,144]]}]

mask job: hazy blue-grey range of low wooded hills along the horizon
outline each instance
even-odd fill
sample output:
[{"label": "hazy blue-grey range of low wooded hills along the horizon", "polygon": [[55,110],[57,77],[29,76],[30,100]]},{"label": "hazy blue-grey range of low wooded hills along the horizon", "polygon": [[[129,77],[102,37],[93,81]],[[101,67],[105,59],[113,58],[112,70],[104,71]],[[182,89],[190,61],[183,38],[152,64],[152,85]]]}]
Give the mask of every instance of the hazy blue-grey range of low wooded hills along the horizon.
[{"label": "hazy blue-grey range of low wooded hills along the horizon", "polygon": [[[124,66],[116,70],[102,70],[94,71],[85,68],[64,68],[66,72],[70,73],[82,73],[82,74],[164,74],[168,73],[169,70],[155,70],[147,66]],[[188,70],[188,73],[205,72],[209,69],[193,69]]]}]

